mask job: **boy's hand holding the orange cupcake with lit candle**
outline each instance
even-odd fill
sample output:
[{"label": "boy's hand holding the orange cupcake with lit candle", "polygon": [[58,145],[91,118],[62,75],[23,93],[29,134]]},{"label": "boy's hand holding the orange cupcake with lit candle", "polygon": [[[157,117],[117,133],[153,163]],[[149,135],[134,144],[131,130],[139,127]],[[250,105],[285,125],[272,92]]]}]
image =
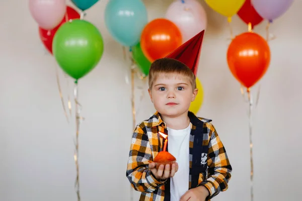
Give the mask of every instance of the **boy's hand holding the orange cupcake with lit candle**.
[{"label": "boy's hand holding the orange cupcake with lit candle", "polygon": [[[149,169],[154,174],[157,179],[166,180],[169,177],[173,177],[175,172],[178,170],[178,164],[175,162],[172,164],[172,168],[170,168],[170,164],[160,165],[159,169],[156,169],[156,165],[154,162],[149,164]],[[170,170],[171,169],[171,170]]]}]

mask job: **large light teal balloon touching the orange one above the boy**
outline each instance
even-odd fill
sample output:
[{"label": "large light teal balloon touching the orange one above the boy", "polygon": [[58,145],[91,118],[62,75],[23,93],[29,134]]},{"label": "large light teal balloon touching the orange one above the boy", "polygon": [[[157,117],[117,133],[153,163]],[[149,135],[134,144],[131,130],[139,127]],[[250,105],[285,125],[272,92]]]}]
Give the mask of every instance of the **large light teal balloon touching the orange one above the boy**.
[{"label": "large light teal balloon touching the orange one above the boy", "polygon": [[106,27],[123,46],[136,45],[147,23],[147,11],[141,0],[110,0],[106,6]]}]

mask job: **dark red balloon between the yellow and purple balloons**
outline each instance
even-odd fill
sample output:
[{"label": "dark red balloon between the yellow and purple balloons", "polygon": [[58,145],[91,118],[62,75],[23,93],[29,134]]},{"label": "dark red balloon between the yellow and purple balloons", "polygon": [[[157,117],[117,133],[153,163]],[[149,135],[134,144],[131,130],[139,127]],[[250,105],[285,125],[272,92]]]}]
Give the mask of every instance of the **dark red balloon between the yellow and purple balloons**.
[{"label": "dark red balloon between the yellow and purple balloons", "polygon": [[246,0],[241,9],[238,11],[237,15],[243,20],[246,24],[251,23],[252,29],[254,26],[258,25],[263,21],[263,18],[257,13],[254,9],[251,0]]}]

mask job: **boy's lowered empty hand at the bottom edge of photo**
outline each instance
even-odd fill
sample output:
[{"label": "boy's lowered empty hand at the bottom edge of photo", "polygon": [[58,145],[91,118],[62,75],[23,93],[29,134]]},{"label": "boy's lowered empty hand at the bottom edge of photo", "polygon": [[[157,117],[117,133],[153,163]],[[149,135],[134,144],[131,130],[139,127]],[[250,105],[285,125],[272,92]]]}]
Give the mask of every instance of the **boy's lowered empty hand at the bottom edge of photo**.
[{"label": "boy's lowered empty hand at the bottom edge of photo", "polygon": [[205,201],[209,195],[209,191],[204,186],[198,186],[188,190],[181,198],[180,201]]}]

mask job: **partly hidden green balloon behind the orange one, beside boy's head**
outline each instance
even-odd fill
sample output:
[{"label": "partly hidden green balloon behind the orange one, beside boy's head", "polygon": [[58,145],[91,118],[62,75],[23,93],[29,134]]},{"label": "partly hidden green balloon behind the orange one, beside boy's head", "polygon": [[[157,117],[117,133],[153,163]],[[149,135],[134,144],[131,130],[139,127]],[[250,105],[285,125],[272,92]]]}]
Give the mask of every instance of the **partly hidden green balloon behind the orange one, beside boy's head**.
[{"label": "partly hidden green balloon behind the orange one, beside boy's head", "polygon": [[149,74],[151,62],[143,54],[140,43],[132,47],[132,56],[138,68],[144,75]]}]

